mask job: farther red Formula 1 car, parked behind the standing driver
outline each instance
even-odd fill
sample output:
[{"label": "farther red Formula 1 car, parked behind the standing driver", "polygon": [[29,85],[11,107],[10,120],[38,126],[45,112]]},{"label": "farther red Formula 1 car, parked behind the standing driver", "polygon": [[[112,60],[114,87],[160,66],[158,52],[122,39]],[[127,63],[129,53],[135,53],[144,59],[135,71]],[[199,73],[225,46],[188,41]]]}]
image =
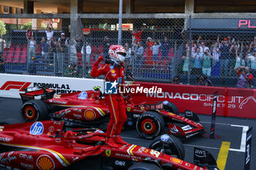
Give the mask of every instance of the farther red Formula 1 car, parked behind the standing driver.
[{"label": "farther red Formula 1 car, parked behind the standing driver", "polygon": [[[59,95],[55,94],[55,90],[38,87],[24,91],[20,96],[23,100],[21,116],[25,122],[45,120],[50,116],[73,126],[85,125],[103,130],[108,126],[109,110],[99,87]],[[132,98],[124,99],[128,117],[124,126],[136,127],[143,138],[154,139],[163,133],[165,125],[169,134],[184,138],[206,131],[195,113],[187,112],[182,117],[170,101],[134,103]]]}]

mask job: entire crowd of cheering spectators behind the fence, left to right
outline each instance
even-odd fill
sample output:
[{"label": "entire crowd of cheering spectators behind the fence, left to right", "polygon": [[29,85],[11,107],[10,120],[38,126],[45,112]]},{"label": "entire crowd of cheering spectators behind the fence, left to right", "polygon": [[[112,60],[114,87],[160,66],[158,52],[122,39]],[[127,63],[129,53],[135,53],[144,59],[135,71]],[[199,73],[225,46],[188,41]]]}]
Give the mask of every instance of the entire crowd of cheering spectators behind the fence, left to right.
[{"label": "entire crowd of cheering spectators behind the fence, left to right", "polygon": [[[170,53],[174,49],[174,44],[176,50],[184,45],[182,43],[184,42],[183,31],[178,29],[177,26],[174,36],[169,37],[170,34],[162,32],[154,35],[154,39],[151,36],[147,36],[145,39],[145,29],[146,25],[143,25],[141,30],[129,31],[130,39],[123,41],[125,50],[127,50],[125,65],[131,65],[131,72],[135,72],[133,77],[141,76],[141,69],[145,68],[147,71],[151,70],[150,72],[170,69],[170,63],[174,55],[174,53],[173,55],[170,55]],[[146,35],[150,34],[147,32]],[[144,38],[142,39],[142,37]],[[70,63],[74,63],[79,69],[79,53],[85,58],[86,65],[95,61],[99,55],[107,58],[110,45],[115,43],[115,40],[110,39],[109,36],[103,36],[102,41],[98,41],[97,45],[94,45],[101,46],[102,53],[91,55],[95,53],[95,49],[91,47],[89,39],[86,39],[86,49],[83,49],[83,36],[66,37],[64,33],[59,36],[59,34],[55,34],[51,24],[48,24],[45,36],[42,37],[40,42],[34,39],[31,28],[26,31],[26,38],[28,40],[28,62],[32,62],[31,58],[34,57],[39,45],[41,54],[37,62],[49,63],[53,61],[53,58],[56,58],[56,72],[59,73],[63,73]],[[246,42],[244,39],[239,41],[238,36],[217,36],[215,39],[212,36],[211,39],[207,36],[198,36],[196,41],[189,41],[183,47],[184,55],[181,55],[181,61],[183,62],[180,67],[182,72],[178,72],[178,74],[186,75],[190,72],[196,77],[201,75],[210,78],[236,77],[239,80],[241,75],[246,74],[237,74],[235,68],[246,66],[252,76],[256,76],[256,36],[251,42]],[[180,55],[176,51],[176,58],[177,56]],[[94,58],[94,60],[91,60],[91,58]],[[174,67],[178,68],[179,63],[176,61],[174,64],[176,64]],[[129,80],[132,79],[129,78]]]}]

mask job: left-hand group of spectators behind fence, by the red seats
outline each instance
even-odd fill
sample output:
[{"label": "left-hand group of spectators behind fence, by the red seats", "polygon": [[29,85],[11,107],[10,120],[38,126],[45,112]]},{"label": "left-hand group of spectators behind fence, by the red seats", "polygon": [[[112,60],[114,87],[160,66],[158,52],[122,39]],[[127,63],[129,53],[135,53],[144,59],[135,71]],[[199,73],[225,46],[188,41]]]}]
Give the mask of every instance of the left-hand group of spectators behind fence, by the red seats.
[{"label": "left-hand group of spectators behind fence, by the red seats", "polygon": [[[41,37],[40,41],[34,39],[34,31],[28,28],[26,31],[26,39],[28,43],[27,61],[29,64],[29,74],[31,72],[31,66],[34,66],[35,60],[37,63],[45,63],[45,65],[53,66],[54,58],[56,58],[56,72],[61,74],[67,72],[67,66],[78,65],[78,55],[84,56],[86,63],[88,64],[91,56],[91,45],[86,42],[86,49],[83,49],[83,36],[77,35],[73,37],[66,37],[62,32],[60,36],[53,30],[52,24],[48,24],[45,30],[45,36]],[[37,37],[38,39],[38,37]],[[103,40],[103,55],[108,54],[108,48],[110,42],[108,36],[105,36]],[[40,48],[40,53],[36,54],[37,48]],[[37,56],[36,56],[37,55]],[[33,59],[32,59],[33,58]],[[83,61],[81,59],[81,61]],[[66,69],[66,70],[65,70]],[[78,72],[78,69],[76,69]],[[65,74],[67,76],[67,73]]]}]

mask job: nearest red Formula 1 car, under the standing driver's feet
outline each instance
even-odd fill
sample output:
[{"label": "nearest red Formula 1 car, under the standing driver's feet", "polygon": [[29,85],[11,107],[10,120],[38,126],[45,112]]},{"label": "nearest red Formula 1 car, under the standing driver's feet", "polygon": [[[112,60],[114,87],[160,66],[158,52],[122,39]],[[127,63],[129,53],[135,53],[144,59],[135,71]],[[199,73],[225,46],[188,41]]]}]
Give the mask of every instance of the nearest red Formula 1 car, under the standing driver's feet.
[{"label": "nearest red Formula 1 car, under the standing driver's feet", "polygon": [[183,161],[184,147],[174,136],[162,135],[151,149],[135,144],[108,147],[105,136],[97,129],[67,131],[64,121],[1,125],[0,169],[217,169],[214,158],[198,148],[197,165]]}]

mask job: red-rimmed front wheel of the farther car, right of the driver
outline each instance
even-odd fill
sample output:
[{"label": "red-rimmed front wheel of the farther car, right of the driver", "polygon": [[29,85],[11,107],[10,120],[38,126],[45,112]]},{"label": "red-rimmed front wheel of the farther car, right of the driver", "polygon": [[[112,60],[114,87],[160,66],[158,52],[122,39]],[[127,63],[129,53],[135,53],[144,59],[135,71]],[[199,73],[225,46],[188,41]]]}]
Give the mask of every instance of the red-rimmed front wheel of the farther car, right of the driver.
[{"label": "red-rimmed front wheel of the farther car, right of the driver", "polygon": [[158,112],[145,112],[136,122],[138,134],[145,139],[154,139],[162,134],[165,128],[165,120]]}]

